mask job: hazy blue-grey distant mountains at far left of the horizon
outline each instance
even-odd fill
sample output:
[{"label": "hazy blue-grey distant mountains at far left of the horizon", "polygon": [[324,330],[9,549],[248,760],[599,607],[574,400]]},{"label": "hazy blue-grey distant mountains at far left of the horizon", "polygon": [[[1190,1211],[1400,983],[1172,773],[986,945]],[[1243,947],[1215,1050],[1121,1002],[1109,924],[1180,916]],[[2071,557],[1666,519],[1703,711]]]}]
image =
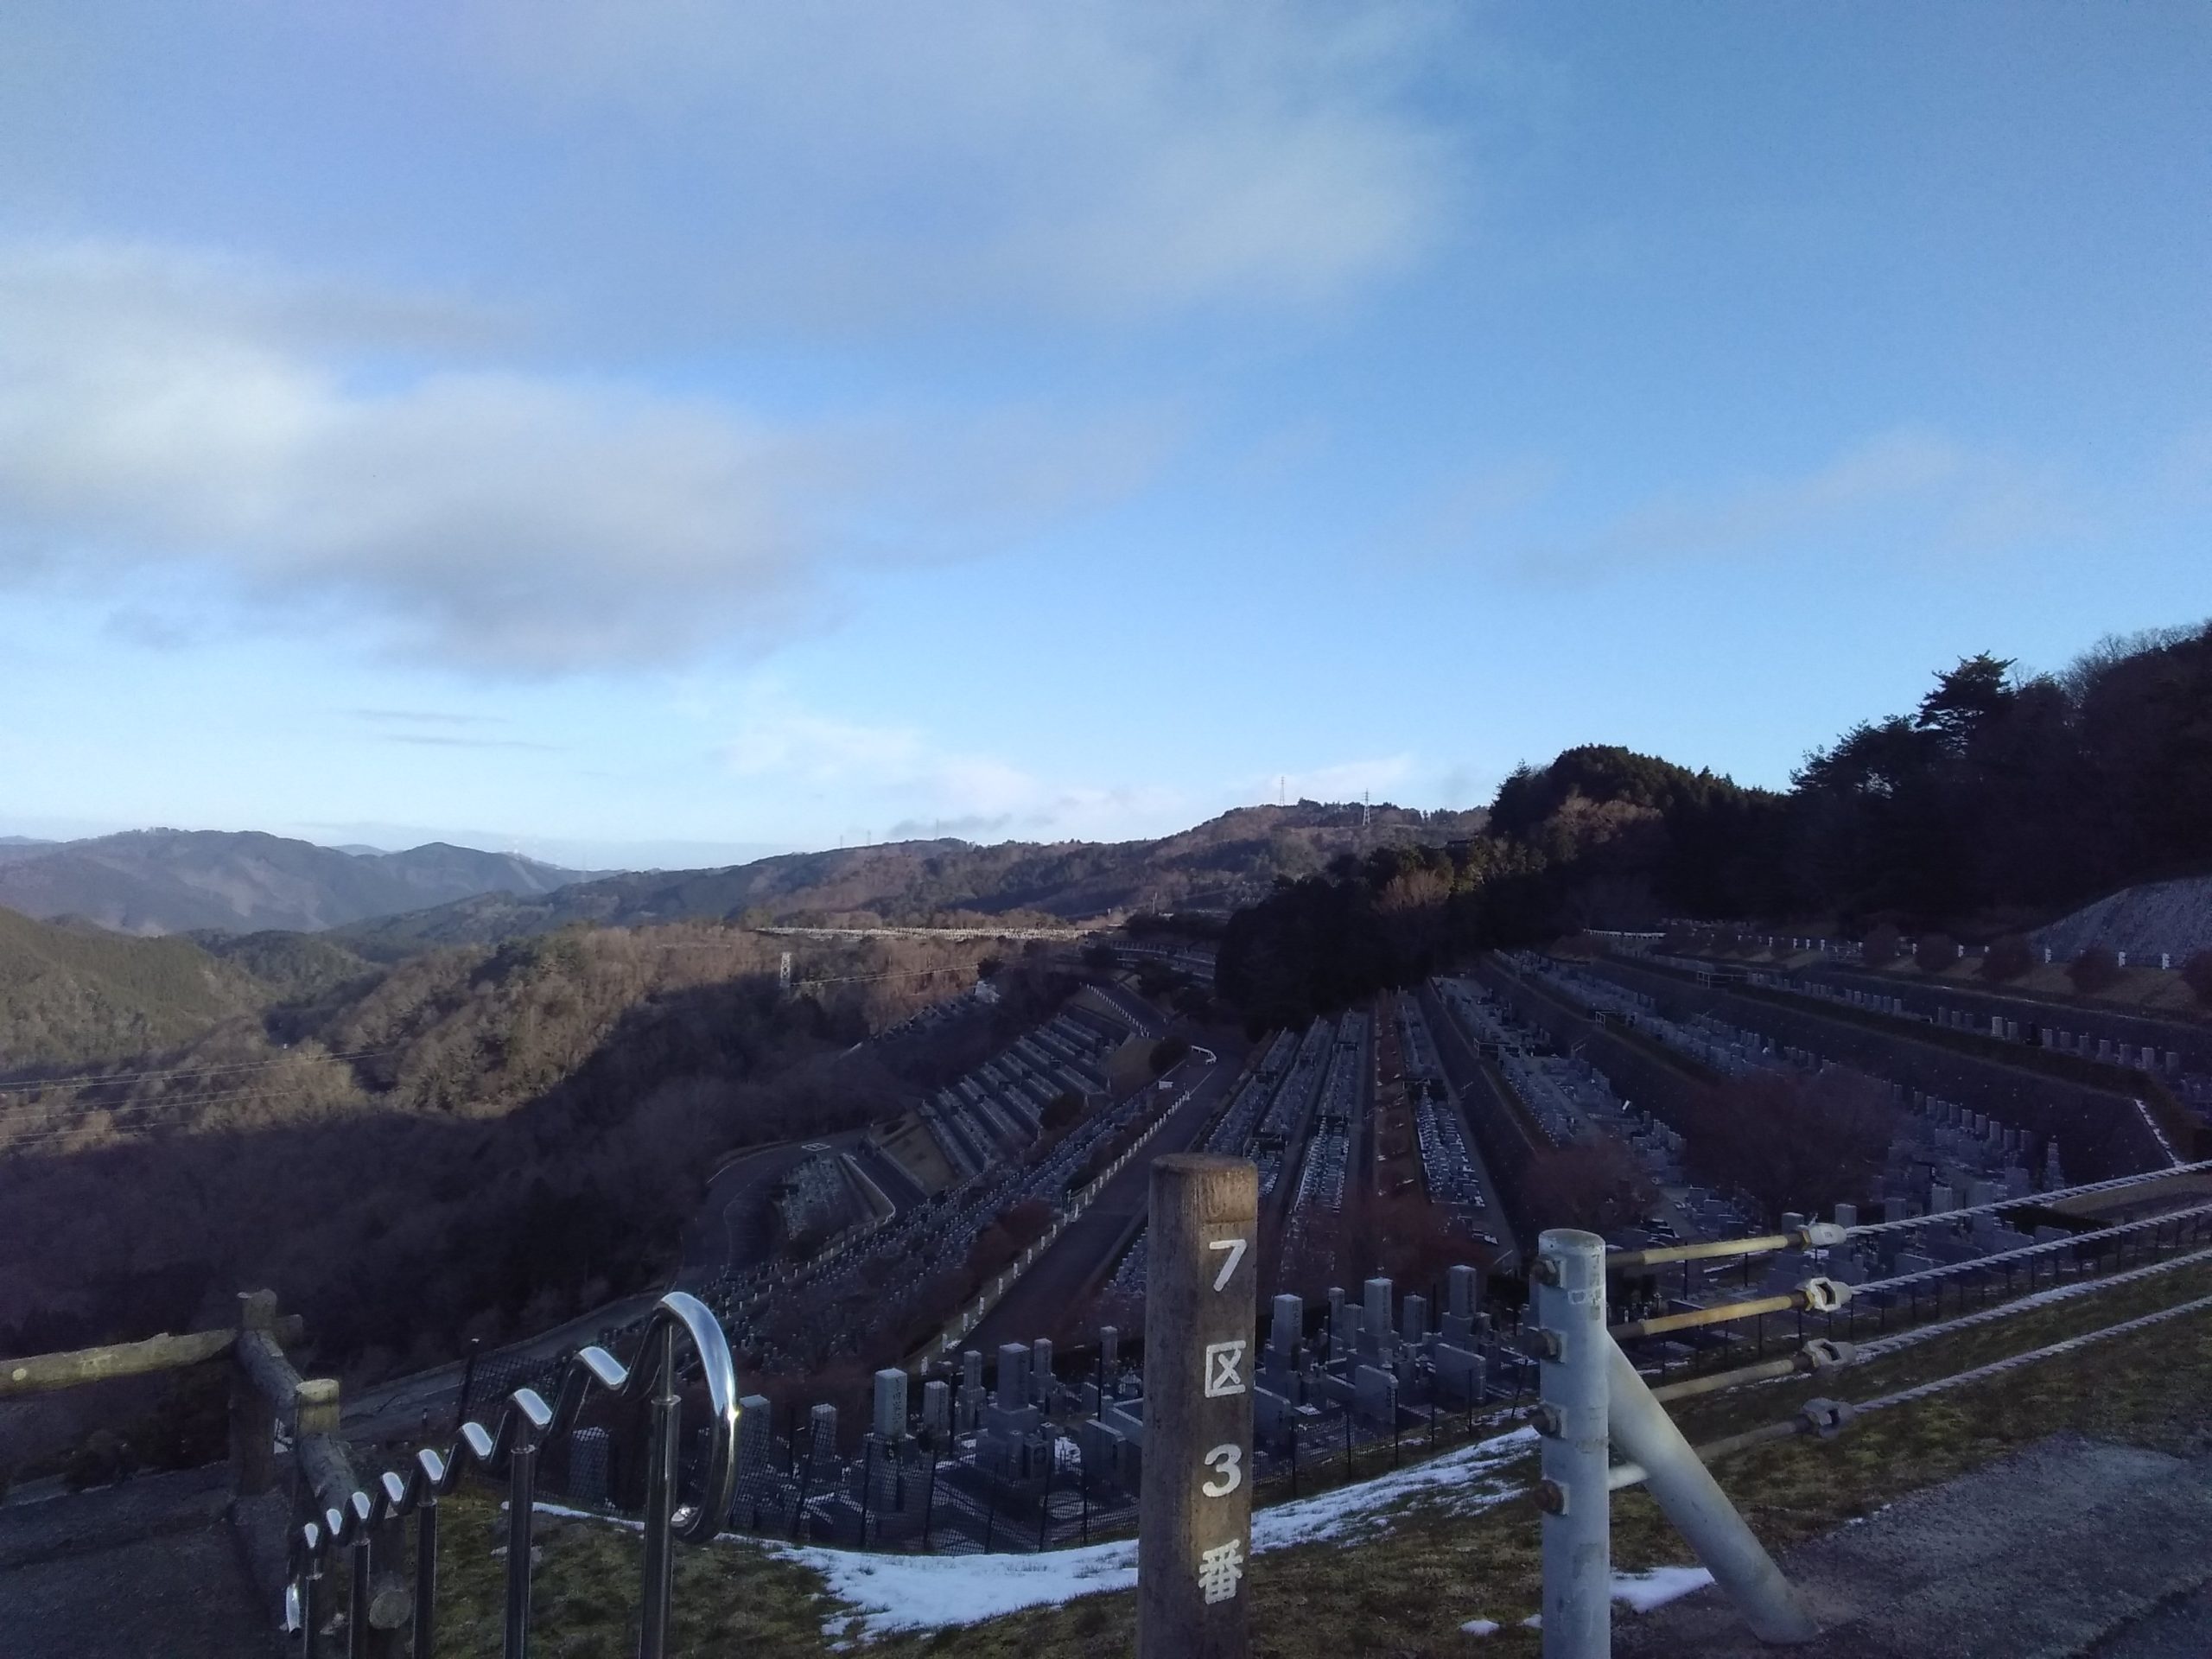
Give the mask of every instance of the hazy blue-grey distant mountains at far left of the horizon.
[{"label": "hazy blue-grey distant mountains at far left of the horizon", "polygon": [[133,830],[0,843],[0,905],[119,933],[319,931],[471,894],[549,894],[588,874],[442,841],[341,852],[254,832]]}]

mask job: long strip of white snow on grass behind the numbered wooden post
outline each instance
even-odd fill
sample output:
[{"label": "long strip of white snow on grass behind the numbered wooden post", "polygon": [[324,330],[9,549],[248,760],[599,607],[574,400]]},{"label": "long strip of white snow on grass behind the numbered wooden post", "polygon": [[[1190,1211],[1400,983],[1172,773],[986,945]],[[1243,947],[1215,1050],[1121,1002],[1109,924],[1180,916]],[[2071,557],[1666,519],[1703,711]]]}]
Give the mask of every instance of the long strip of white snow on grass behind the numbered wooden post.
[{"label": "long strip of white snow on grass behind the numbered wooden post", "polygon": [[[1522,1491],[1500,1480],[1498,1471],[1522,1458],[1533,1442],[1535,1429],[1515,1429],[1411,1469],[1263,1509],[1252,1517],[1252,1551],[1378,1533],[1409,1506],[1451,1515],[1491,1509]],[[763,1548],[818,1573],[830,1595],[849,1606],[849,1613],[825,1624],[827,1635],[843,1635],[852,1619],[860,1619],[865,1637],[942,1630],[1137,1586],[1135,1540],[1042,1555],[874,1555],[799,1544]]]}]

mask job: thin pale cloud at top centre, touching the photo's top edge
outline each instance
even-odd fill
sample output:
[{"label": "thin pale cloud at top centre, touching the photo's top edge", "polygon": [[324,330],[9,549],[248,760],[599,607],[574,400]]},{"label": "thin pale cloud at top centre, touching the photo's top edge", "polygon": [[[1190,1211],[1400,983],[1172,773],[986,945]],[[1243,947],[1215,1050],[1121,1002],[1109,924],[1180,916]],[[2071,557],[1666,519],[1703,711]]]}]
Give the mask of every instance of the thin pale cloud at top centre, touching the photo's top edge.
[{"label": "thin pale cloud at top centre, touching the photo's top edge", "polygon": [[[480,4],[553,119],[622,115],[737,314],[1150,319],[1327,301],[1464,195],[1447,4]],[[1433,91],[1429,86],[1427,91]]]}]

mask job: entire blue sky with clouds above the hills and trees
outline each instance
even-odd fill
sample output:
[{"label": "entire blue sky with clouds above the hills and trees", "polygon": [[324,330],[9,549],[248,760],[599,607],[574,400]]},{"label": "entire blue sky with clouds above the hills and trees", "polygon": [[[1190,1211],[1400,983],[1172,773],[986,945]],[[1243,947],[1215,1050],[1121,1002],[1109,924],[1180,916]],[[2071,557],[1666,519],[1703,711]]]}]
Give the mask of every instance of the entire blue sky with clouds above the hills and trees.
[{"label": "entire blue sky with clouds above the hills and trees", "polygon": [[1785,785],[2212,615],[2212,9],[11,0],[0,834]]}]

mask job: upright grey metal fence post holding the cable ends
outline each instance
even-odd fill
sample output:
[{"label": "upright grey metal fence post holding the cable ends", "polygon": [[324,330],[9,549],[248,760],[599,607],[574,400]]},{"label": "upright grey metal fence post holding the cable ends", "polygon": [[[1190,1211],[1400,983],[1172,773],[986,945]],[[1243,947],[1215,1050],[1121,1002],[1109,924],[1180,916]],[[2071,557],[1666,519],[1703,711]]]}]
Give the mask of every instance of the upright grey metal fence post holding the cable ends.
[{"label": "upright grey metal fence post holding the cable ends", "polygon": [[1544,1659],[1610,1659],[1613,1526],[1606,1491],[1606,1241],[1537,1239],[1537,1429],[1544,1436]]}]

